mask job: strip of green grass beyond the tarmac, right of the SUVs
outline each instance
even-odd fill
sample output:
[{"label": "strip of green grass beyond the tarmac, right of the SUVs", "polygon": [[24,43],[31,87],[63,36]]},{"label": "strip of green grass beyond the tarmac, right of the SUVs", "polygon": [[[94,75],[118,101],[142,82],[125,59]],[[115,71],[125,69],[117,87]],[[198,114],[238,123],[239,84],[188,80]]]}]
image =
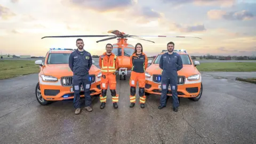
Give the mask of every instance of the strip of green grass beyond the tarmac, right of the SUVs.
[{"label": "strip of green grass beyond the tarmac, right of the SUVs", "polygon": [[255,62],[212,62],[200,63],[199,71],[256,71]]}]

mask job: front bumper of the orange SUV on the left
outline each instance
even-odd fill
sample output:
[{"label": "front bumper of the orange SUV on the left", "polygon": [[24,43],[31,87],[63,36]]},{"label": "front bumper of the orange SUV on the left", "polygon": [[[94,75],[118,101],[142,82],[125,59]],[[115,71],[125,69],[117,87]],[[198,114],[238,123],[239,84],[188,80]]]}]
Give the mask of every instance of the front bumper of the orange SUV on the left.
[{"label": "front bumper of the orange SUV on the left", "polygon": [[[62,86],[58,82],[43,82],[39,77],[39,86],[43,99],[48,101],[61,101],[66,99],[74,99],[74,92],[71,91],[73,86]],[[91,96],[101,93],[100,81],[91,84]],[[84,91],[80,92],[81,97],[84,97]]]}]

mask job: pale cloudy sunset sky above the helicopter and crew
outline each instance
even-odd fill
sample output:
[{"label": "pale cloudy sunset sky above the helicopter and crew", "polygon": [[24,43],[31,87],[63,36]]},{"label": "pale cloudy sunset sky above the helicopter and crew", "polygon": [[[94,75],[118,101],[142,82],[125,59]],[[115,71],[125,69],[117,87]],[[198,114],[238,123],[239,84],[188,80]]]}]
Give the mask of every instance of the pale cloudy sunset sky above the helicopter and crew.
[{"label": "pale cloudy sunset sky above the helicopter and crew", "polygon": [[[44,56],[50,47],[76,48],[76,38],[54,35],[101,35],[120,30],[130,35],[196,36],[151,38],[142,43],[148,55],[166,49],[190,54],[256,54],[256,1],[235,0],[1,0],[0,49],[3,54]],[[111,34],[110,34],[111,35]],[[106,43],[83,38],[85,49],[102,54]]]}]

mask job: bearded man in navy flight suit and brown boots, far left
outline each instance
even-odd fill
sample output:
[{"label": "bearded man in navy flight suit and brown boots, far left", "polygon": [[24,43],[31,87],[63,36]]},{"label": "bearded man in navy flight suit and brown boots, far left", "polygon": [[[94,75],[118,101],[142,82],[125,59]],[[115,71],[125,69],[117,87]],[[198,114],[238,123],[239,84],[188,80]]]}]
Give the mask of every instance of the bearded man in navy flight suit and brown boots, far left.
[{"label": "bearded man in navy flight suit and brown boots, far left", "polygon": [[85,97],[85,109],[87,111],[92,111],[90,107],[91,98],[91,81],[89,70],[92,66],[92,56],[91,53],[85,51],[83,39],[78,38],[76,40],[77,50],[73,51],[69,56],[69,67],[73,71],[73,90],[74,90],[74,107],[76,109],[75,114],[79,114],[81,111],[80,91],[81,84],[83,83],[84,97]]}]

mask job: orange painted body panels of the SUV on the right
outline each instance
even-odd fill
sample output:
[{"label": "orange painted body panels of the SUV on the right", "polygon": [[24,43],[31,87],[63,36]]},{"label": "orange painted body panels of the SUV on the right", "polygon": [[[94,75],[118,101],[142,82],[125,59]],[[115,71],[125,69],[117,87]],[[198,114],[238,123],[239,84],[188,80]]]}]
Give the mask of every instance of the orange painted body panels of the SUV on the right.
[{"label": "orange painted body panels of the SUV on the right", "polygon": [[[186,52],[180,52],[180,51],[175,51],[178,54],[187,54]],[[158,55],[161,56],[163,52],[159,53]],[[188,54],[187,54],[188,55]],[[189,55],[188,55],[189,56]],[[156,57],[157,58],[157,57]],[[152,64],[146,69],[146,86],[145,86],[145,92],[149,94],[159,94],[161,95],[161,82],[160,81],[155,81],[157,76],[162,75],[162,69],[159,67],[159,64],[154,64],[154,61],[156,58],[152,61]],[[178,80],[182,80],[182,76],[184,78],[183,83],[178,84],[178,97],[182,98],[196,98],[196,97],[201,97],[202,94],[200,92],[201,86],[202,86],[202,77],[199,71],[197,70],[193,60],[189,57],[191,61],[191,65],[183,65],[183,68],[178,71],[178,76],[181,76],[181,79],[178,78]],[[197,64],[199,65],[199,64]],[[199,79],[196,80],[188,80],[189,76],[193,75],[198,75],[199,74]],[[155,78],[154,78],[155,77]],[[189,92],[190,91],[190,92]],[[167,95],[172,95],[170,86],[169,86],[169,92]]]}]

